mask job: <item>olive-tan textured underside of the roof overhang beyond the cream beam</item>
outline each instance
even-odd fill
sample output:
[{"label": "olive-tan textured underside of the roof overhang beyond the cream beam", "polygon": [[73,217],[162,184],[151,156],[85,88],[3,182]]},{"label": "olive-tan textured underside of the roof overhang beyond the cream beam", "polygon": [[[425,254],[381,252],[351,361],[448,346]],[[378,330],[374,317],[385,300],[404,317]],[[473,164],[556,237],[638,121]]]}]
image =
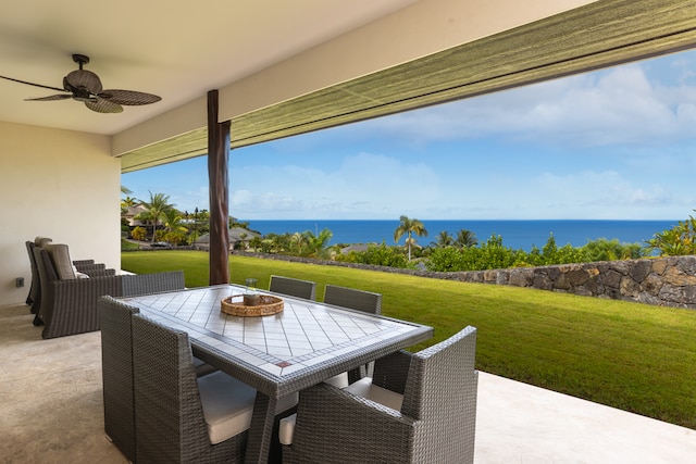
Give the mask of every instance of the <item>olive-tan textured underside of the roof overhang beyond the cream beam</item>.
[{"label": "olive-tan textured underside of the roof overhang beyond the cream beam", "polygon": [[[512,29],[235,113],[263,76],[221,89],[231,148],[592,71],[696,45],[696,3],[602,0]],[[279,65],[278,70],[284,70]],[[274,70],[266,70],[274,72]],[[315,72],[313,70],[312,72]],[[287,79],[293,79],[288,73]],[[226,109],[226,113],[224,112]],[[204,126],[122,153],[130,172],[206,154]]]}]

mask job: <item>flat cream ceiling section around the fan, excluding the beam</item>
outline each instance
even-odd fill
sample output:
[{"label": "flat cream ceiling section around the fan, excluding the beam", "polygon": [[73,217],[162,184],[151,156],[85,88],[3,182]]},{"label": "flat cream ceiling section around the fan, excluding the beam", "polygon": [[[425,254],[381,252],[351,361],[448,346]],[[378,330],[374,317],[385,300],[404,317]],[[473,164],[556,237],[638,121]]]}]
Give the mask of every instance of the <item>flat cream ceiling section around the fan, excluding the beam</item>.
[{"label": "flat cream ceiling section around the fan, excluding the beam", "polygon": [[57,93],[0,81],[0,120],[114,135],[251,75],[414,0],[25,0],[0,15],[0,75],[62,87],[77,68],[105,88],[162,97],[149,106],[99,115]]}]

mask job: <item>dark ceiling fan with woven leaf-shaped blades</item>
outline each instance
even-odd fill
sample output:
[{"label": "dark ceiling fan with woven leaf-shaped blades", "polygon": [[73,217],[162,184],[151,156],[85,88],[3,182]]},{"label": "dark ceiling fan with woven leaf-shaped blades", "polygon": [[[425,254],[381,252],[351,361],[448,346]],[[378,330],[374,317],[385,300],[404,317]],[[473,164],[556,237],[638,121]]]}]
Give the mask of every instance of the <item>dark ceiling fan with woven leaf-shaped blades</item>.
[{"label": "dark ceiling fan with woven leaf-shaped blades", "polygon": [[135,90],[103,90],[99,76],[91,71],[83,70],[83,65],[89,63],[89,57],[84,54],[73,54],[73,61],[79,64],[79,70],[75,70],[67,76],[63,77],[62,89],[59,87],[27,83],[26,80],[13,79],[12,77],[0,76],[0,78],[63,92],[49,97],[27,98],[25,99],[26,101],[52,101],[72,98],[73,100],[84,102],[88,109],[98,113],[121,113],[123,111],[123,106],[121,106],[122,104],[140,105],[162,100],[161,97],[156,95],[138,92]]}]

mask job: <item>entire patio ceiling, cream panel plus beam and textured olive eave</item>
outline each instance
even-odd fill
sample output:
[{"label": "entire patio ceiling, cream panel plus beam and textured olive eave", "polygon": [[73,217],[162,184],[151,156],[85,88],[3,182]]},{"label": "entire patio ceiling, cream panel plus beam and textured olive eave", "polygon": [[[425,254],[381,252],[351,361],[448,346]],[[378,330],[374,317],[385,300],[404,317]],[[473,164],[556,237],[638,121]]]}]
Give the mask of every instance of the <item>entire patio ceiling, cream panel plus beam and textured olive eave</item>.
[{"label": "entire patio ceiling, cream panel plus beam and textured olive eave", "polygon": [[[560,13],[560,14],[558,14]],[[123,171],[203,154],[206,93],[240,147],[696,43],[688,0],[26,0],[0,16],[0,75],[162,101],[98,114],[0,79],[0,121],[105,134]]]}]

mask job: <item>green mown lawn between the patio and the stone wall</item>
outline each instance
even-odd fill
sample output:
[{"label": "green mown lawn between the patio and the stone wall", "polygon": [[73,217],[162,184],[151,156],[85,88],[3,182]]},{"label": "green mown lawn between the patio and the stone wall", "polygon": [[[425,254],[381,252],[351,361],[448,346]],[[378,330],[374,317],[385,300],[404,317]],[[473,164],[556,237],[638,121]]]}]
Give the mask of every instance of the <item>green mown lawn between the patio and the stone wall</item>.
[{"label": "green mown lawn between the patio and the stone wall", "polygon": [[[184,269],[208,285],[208,254],[126,252],[135,273]],[[696,311],[506,286],[232,255],[231,281],[272,274],[383,294],[383,314],[435,329],[419,350],[467,325],[478,329],[481,371],[696,429]]]}]

